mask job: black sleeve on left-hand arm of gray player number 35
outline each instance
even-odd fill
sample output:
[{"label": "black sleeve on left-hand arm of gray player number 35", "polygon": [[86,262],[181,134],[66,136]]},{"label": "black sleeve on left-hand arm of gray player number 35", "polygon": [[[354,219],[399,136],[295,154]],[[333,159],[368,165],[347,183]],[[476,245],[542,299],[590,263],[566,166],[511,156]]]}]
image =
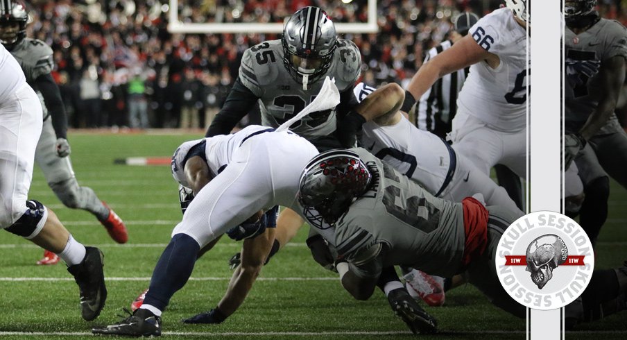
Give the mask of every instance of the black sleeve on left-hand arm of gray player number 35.
[{"label": "black sleeve on left-hand arm of gray player number 35", "polygon": [[212,124],[207,129],[205,137],[231,133],[237,122],[252,110],[258,99],[258,96],[241,83],[239,77],[235,79],[231,92],[229,92],[222,109],[216,114]]}]

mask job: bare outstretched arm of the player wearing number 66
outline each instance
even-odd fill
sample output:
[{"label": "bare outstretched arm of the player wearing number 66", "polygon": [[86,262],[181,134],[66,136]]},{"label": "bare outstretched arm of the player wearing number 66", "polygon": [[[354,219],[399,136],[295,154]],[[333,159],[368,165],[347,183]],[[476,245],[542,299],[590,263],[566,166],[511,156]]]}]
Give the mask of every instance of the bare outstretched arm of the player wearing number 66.
[{"label": "bare outstretched arm of the player wearing number 66", "polygon": [[[438,54],[438,56],[424,63],[418,69],[418,72],[411,78],[407,86],[406,99],[402,110],[409,111],[413,103],[420,99],[422,94],[427,92],[440,77],[482,60],[488,61],[491,66],[495,63],[498,65],[499,57],[479,46],[472,35],[469,34],[461,38],[450,49]],[[410,99],[413,99],[413,103],[411,103]],[[410,103],[412,105],[409,105]]]}]

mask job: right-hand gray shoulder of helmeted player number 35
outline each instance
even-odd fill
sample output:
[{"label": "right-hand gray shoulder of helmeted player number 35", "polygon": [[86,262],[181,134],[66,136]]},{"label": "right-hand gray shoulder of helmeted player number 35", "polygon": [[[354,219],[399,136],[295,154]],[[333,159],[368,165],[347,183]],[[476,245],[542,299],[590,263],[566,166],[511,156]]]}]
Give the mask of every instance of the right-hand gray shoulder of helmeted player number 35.
[{"label": "right-hand gray shoulder of helmeted player number 35", "polygon": [[[338,39],[338,48],[333,58],[336,84],[340,91],[353,85],[361,75],[361,52],[350,40]],[[338,82],[339,80],[339,82]]]}]

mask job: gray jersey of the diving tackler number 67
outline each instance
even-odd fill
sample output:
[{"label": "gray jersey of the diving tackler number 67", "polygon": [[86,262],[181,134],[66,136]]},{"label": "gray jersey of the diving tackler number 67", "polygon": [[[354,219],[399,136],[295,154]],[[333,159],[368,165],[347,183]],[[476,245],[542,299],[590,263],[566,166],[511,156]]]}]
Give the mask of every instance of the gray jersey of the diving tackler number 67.
[{"label": "gray jersey of the diving tackler number 67", "polygon": [[384,266],[406,264],[432,275],[455,274],[459,268],[450,264],[461,264],[465,244],[461,203],[433,197],[363,148],[352,151],[367,164],[375,185],[336,222],[338,254],[350,260],[384,244]]}]

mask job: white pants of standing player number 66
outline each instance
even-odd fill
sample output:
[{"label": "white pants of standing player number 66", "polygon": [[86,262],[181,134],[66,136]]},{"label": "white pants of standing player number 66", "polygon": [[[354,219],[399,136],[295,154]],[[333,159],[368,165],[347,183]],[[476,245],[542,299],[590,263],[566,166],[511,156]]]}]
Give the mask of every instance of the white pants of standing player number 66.
[{"label": "white pants of standing player number 66", "polygon": [[492,167],[503,164],[523,179],[527,178],[526,128],[512,133],[495,130],[465,112],[458,112],[452,125],[449,140],[453,148],[477,169],[490,176]]}]

